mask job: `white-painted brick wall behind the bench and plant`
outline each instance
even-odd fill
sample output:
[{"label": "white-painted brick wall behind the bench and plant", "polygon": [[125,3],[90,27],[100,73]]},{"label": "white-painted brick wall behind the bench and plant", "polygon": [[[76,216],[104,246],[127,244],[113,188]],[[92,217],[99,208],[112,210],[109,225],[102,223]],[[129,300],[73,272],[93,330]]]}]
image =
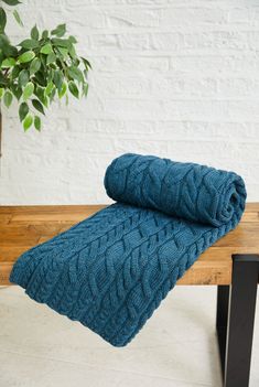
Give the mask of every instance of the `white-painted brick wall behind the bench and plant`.
[{"label": "white-painted brick wall behind the bench and plant", "polygon": [[[87,100],[42,133],[3,110],[0,204],[105,203],[122,152],[235,170],[259,201],[258,0],[24,0],[28,26],[67,22],[90,58]],[[11,24],[15,41],[26,34]]]}]

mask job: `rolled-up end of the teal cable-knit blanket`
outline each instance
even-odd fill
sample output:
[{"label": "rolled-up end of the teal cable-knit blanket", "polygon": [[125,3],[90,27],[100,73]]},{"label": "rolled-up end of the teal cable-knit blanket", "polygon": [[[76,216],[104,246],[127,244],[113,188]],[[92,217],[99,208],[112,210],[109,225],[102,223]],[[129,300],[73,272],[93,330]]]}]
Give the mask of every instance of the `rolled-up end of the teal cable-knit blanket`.
[{"label": "rolled-up end of the teal cable-knit blanket", "polygon": [[105,186],[115,201],[213,226],[239,221],[245,208],[246,189],[236,173],[153,155],[115,159]]}]

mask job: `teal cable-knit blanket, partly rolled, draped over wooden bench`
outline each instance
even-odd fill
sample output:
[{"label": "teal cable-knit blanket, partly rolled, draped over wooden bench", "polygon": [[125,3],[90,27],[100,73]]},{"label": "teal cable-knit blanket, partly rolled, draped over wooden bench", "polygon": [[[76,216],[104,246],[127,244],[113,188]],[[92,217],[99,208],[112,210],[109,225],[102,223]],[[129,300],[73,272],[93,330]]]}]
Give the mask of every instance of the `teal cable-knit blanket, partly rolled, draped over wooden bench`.
[{"label": "teal cable-knit blanket, partly rolled, draped over wooden bench", "polygon": [[10,280],[123,346],[198,256],[237,226],[246,189],[234,172],[138,154],[112,161],[105,186],[117,203],[23,254]]}]

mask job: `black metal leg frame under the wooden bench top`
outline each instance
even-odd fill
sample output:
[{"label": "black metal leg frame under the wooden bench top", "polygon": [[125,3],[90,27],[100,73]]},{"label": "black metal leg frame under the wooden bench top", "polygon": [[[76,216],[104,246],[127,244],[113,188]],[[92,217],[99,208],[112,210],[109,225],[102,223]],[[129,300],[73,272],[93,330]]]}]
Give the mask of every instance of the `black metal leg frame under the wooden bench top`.
[{"label": "black metal leg frame under the wooden bench top", "polygon": [[234,255],[231,286],[218,286],[216,329],[224,387],[249,386],[258,277],[258,255]]}]

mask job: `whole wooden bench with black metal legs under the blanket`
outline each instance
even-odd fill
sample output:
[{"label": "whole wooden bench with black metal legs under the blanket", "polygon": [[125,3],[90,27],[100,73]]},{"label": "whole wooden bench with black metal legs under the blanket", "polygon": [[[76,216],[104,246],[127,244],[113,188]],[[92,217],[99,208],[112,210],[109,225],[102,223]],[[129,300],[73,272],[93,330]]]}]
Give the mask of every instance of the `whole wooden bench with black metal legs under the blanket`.
[{"label": "whole wooden bench with black metal legs under the blanket", "polygon": [[[0,207],[0,286],[17,258],[105,205]],[[177,284],[217,286],[216,329],[225,387],[249,385],[259,277],[259,203],[240,225],[205,251]]]}]

